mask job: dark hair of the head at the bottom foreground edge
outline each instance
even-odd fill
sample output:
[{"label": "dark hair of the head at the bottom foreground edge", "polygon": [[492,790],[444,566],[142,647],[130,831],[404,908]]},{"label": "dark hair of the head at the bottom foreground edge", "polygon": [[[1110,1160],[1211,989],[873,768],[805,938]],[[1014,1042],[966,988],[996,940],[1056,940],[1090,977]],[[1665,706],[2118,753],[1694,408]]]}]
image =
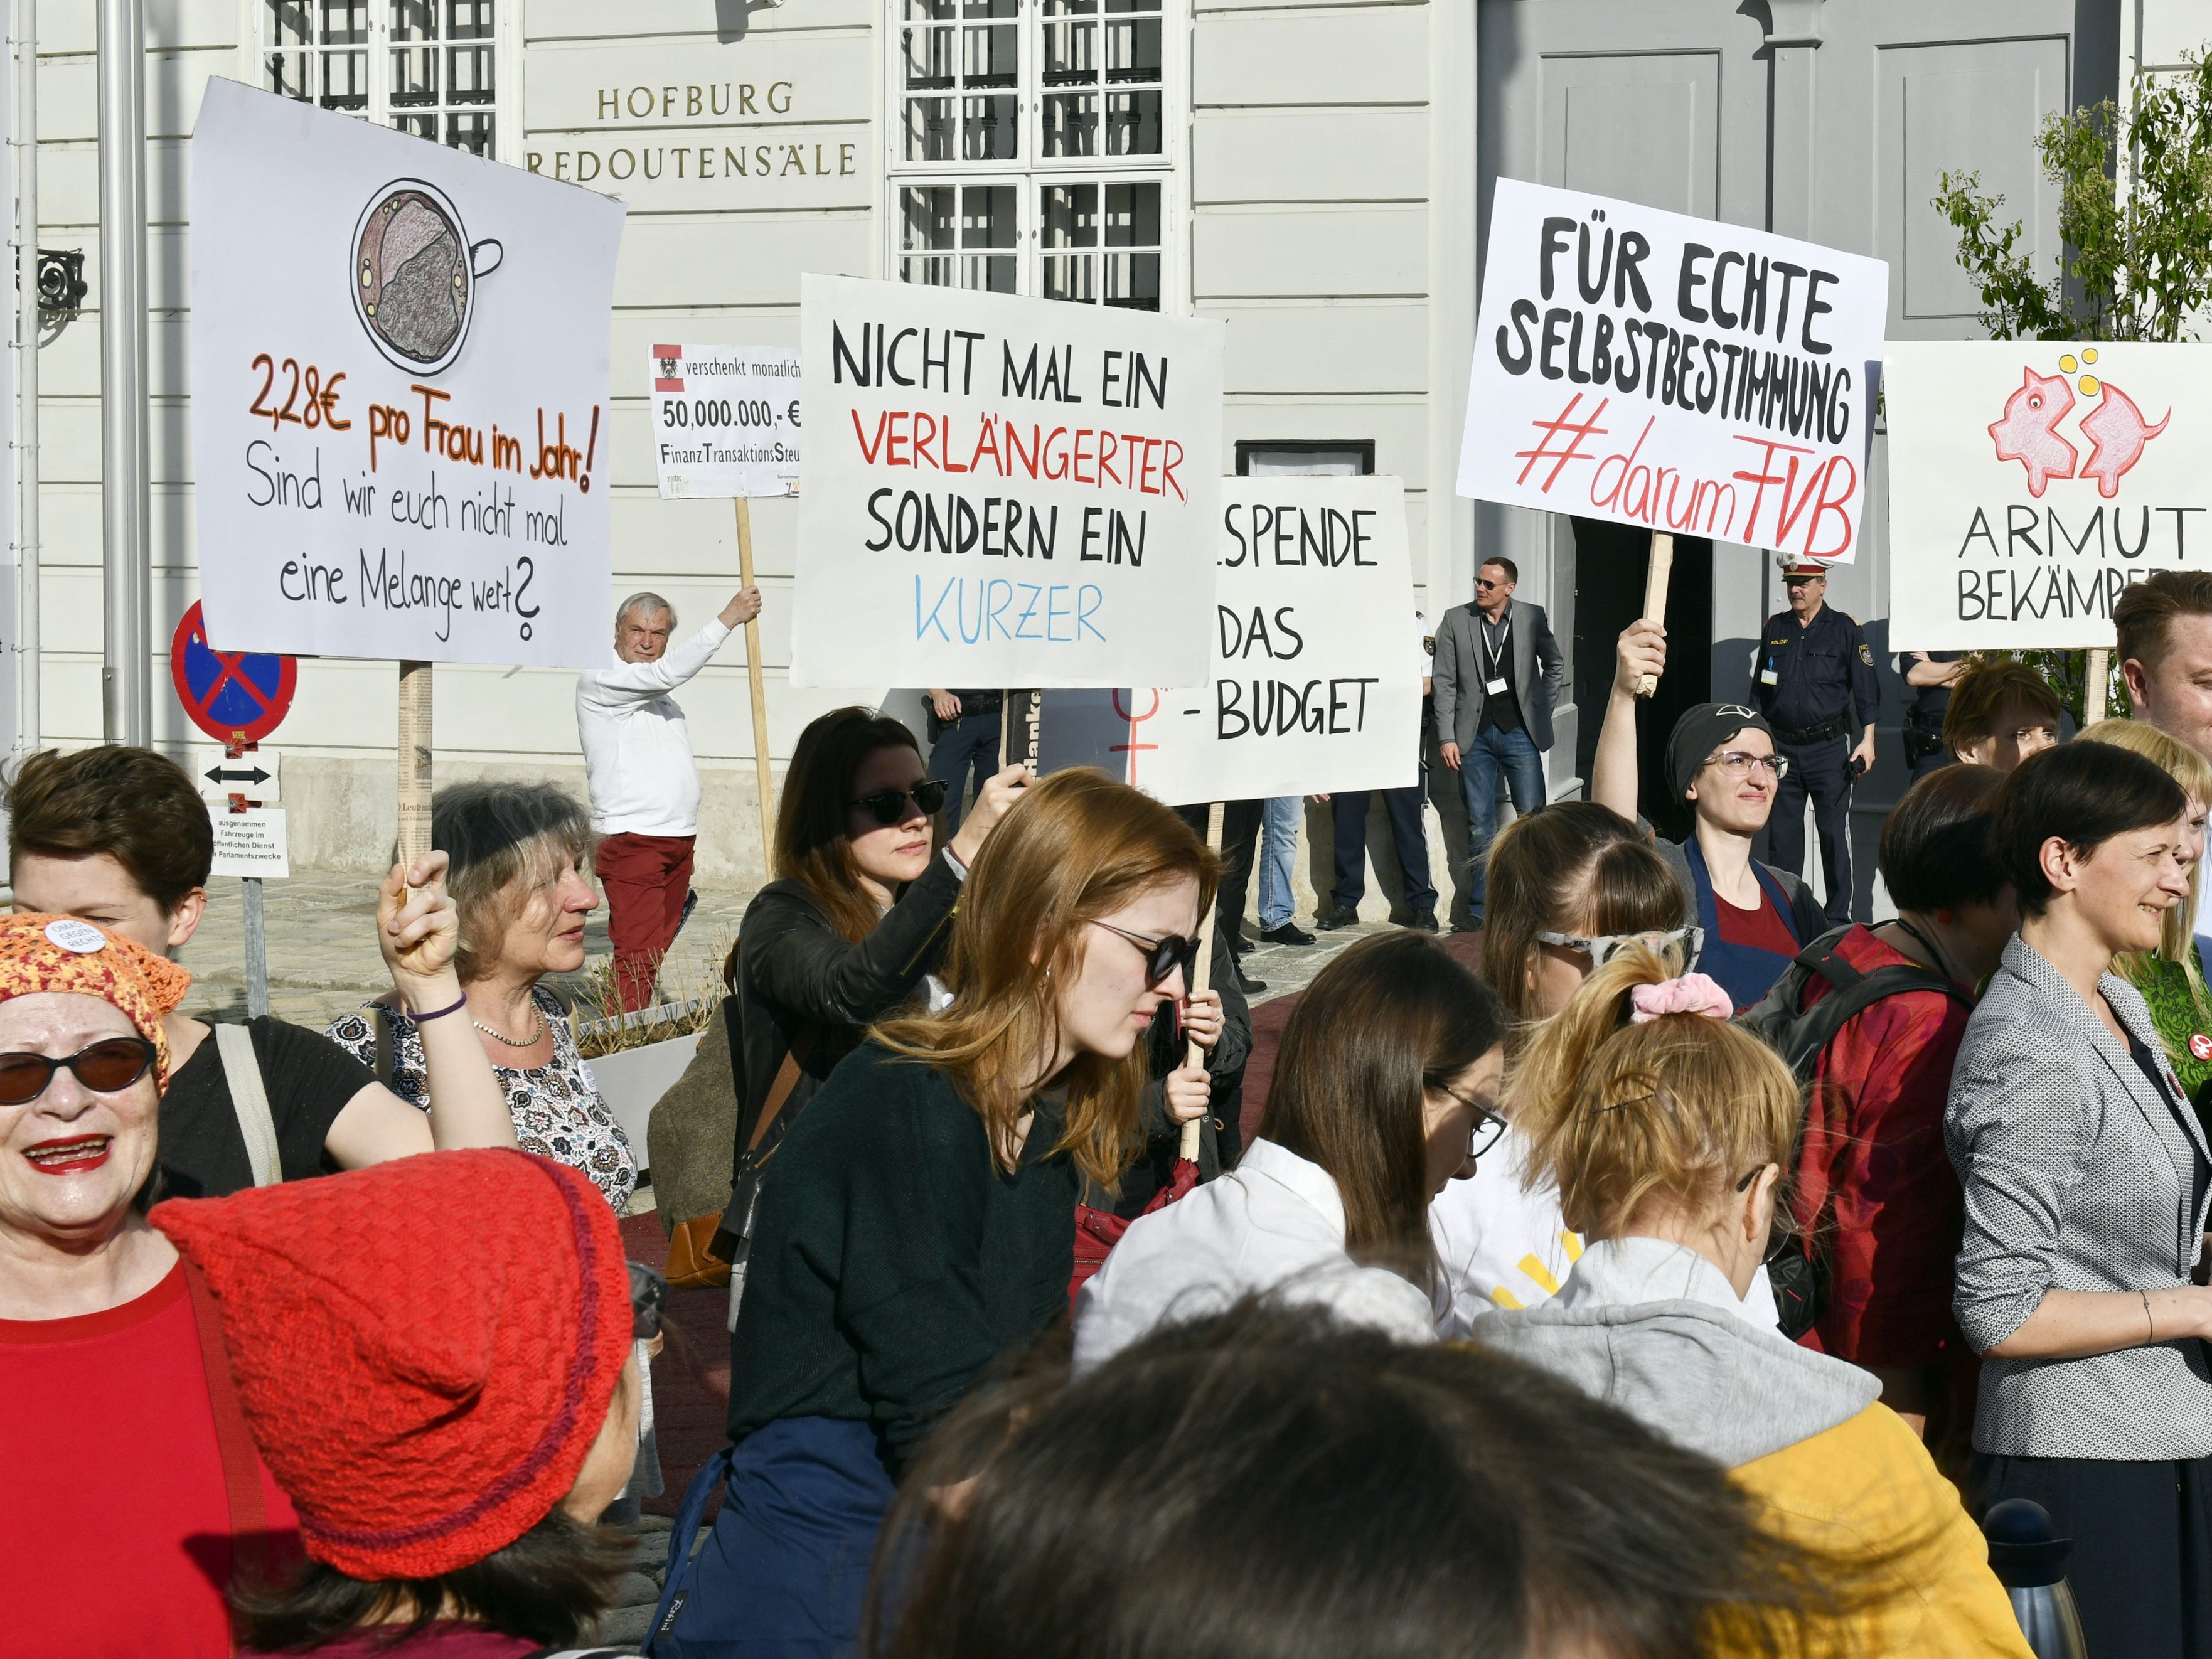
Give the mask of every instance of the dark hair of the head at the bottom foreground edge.
[{"label": "dark hair of the head at the bottom foreground edge", "polygon": [[[958,1511],[933,1502],[967,1478]],[[1243,1303],[1164,1325],[1073,1385],[1046,1363],[969,1396],[900,1486],[860,1650],[1851,1650],[1874,1573],[1783,1520],[1555,1376]]]}]

